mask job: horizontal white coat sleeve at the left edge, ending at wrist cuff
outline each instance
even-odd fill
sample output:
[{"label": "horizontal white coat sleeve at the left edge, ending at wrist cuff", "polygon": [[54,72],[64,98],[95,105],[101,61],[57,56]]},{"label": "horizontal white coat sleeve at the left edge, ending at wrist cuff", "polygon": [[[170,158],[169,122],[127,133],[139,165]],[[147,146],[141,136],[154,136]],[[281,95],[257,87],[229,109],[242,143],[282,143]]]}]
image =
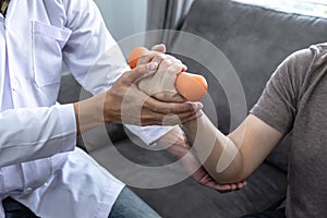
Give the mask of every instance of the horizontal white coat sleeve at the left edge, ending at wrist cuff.
[{"label": "horizontal white coat sleeve at the left edge, ending at wrist cuff", "polygon": [[73,105],[5,110],[0,123],[0,168],[75,148]]}]

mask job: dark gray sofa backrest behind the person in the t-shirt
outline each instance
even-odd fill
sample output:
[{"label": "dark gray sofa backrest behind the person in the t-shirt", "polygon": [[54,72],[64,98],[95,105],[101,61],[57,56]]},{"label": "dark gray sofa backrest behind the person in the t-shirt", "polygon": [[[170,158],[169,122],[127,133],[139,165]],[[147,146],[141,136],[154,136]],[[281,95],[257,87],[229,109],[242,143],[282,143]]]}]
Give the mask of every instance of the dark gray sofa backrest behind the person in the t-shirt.
[{"label": "dark gray sofa backrest behind the person in the t-shirt", "polygon": [[[310,45],[327,41],[326,19],[230,0],[195,0],[181,31],[203,37],[220,49],[241,80],[249,110],[286,57]],[[185,38],[179,34],[172,43],[172,47],[175,46],[192,45],[185,44]],[[198,49],[198,52],[202,50]],[[210,53],[203,56],[211,58]],[[230,108],[221,85],[202,63],[185,58],[183,61],[189,65],[189,71],[198,72],[208,80],[209,96],[216,99],[218,128],[225,133],[229,132]],[[287,170],[289,144],[287,137],[267,160]]]}]

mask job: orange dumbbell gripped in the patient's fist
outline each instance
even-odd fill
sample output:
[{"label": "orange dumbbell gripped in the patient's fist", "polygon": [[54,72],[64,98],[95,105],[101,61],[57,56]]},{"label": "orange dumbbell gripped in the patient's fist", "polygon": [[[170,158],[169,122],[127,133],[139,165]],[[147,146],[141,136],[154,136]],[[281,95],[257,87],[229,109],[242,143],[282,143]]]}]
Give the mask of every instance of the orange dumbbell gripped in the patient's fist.
[{"label": "orange dumbbell gripped in the patient's fist", "polygon": [[[136,68],[140,57],[146,51],[146,48],[138,47],[130,53],[129,64],[131,69]],[[208,89],[205,77],[186,72],[178,74],[174,86],[181,96],[191,101],[199,100]]]}]

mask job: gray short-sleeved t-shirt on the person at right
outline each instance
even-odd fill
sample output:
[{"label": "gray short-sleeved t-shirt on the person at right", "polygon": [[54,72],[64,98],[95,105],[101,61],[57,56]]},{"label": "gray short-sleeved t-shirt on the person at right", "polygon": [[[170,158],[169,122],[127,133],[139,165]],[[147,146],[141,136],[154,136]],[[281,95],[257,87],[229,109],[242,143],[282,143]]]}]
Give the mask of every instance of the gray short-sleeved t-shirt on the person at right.
[{"label": "gray short-sleeved t-shirt on the person at right", "polygon": [[292,135],[288,217],[327,217],[327,44],[287,58],[251,113]]}]

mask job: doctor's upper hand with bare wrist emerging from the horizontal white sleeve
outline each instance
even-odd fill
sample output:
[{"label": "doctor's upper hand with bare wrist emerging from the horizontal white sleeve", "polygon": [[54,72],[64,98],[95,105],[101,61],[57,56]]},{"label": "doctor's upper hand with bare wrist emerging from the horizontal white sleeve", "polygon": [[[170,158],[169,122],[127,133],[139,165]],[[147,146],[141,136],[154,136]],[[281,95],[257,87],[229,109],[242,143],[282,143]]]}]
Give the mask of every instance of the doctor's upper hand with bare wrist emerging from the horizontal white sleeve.
[{"label": "doctor's upper hand with bare wrist emerging from the horizontal white sleeve", "polygon": [[158,68],[154,61],[140,64],[124,73],[109,90],[75,102],[77,134],[111,122],[174,125],[195,120],[202,104],[164,102],[138,89],[137,82],[156,73]]}]

